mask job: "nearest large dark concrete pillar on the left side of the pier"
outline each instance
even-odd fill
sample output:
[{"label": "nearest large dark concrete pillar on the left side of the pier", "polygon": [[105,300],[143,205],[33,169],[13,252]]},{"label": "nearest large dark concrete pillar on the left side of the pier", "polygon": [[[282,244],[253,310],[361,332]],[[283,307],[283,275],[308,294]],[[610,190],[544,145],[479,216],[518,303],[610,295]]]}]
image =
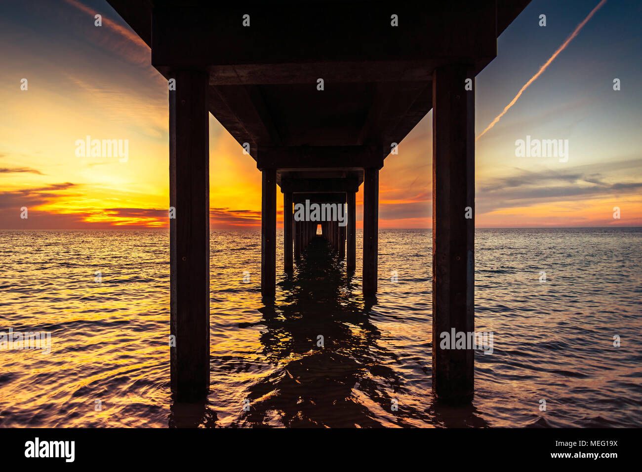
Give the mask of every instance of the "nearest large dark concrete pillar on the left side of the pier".
[{"label": "nearest large dark concrete pillar on the left side of the pier", "polygon": [[[209,102],[205,72],[179,71],[169,92],[170,384],[175,399],[209,390]],[[171,340],[170,340],[171,341]]]}]

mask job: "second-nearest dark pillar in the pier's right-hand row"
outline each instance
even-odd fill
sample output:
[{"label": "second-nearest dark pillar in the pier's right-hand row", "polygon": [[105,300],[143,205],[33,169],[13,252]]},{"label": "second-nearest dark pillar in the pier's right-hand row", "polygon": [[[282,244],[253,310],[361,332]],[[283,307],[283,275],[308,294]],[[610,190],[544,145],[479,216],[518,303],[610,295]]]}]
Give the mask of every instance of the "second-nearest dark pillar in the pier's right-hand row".
[{"label": "second-nearest dark pillar in the pier's right-hand row", "polygon": [[379,169],[363,169],[363,293],[377,292]]}]

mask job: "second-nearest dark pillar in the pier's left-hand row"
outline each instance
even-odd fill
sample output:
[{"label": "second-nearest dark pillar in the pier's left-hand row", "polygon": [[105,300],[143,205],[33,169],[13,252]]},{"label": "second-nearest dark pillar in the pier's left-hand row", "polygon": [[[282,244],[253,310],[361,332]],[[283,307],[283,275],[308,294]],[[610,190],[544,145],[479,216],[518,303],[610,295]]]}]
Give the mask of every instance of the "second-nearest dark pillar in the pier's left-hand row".
[{"label": "second-nearest dark pillar in the pier's left-hand row", "polygon": [[277,173],[261,171],[261,294],[274,296],[277,263]]}]

